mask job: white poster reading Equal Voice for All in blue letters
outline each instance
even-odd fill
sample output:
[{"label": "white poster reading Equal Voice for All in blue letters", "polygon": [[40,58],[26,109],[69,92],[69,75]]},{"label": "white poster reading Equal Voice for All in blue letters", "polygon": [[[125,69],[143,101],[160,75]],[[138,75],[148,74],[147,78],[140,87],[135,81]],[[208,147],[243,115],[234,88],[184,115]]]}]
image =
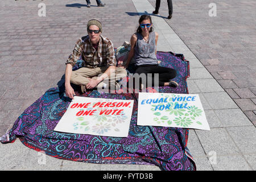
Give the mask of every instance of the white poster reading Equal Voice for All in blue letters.
[{"label": "white poster reading Equal Voice for All in blue letters", "polygon": [[198,94],[139,93],[137,124],[210,130]]}]

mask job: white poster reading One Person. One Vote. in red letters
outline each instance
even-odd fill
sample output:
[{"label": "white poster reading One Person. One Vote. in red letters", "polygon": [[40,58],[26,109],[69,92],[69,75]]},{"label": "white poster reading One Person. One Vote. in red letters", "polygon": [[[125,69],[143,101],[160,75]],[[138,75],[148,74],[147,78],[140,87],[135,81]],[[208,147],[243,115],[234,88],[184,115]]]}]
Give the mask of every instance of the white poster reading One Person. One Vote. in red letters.
[{"label": "white poster reading One Person. One Vote. in red letters", "polygon": [[75,96],[54,131],[127,137],[133,100]]}]

